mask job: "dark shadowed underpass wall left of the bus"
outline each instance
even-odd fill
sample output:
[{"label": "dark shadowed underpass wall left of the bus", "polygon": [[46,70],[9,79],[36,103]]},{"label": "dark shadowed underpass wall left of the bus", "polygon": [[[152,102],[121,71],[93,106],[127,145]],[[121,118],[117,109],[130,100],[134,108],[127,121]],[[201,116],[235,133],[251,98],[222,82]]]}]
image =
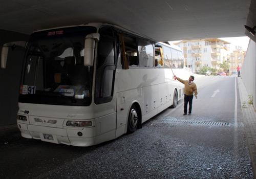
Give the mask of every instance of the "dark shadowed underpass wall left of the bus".
[{"label": "dark shadowed underpass wall left of the bus", "polygon": [[[0,30],[0,53],[4,43],[23,40],[28,40],[28,35]],[[10,49],[7,68],[0,68],[0,127],[16,123],[23,56],[24,49]]]}]

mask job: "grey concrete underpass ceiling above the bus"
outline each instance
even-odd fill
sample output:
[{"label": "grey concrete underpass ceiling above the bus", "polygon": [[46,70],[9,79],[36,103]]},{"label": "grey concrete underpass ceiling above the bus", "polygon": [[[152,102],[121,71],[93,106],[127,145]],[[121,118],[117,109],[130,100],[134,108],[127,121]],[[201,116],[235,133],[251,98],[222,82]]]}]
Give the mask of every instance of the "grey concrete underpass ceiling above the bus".
[{"label": "grey concrete underpass ceiling above the bus", "polygon": [[244,36],[250,0],[9,0],[0,5],[0,29],[4,30],[30,34],[103,22],[170,41]]}]

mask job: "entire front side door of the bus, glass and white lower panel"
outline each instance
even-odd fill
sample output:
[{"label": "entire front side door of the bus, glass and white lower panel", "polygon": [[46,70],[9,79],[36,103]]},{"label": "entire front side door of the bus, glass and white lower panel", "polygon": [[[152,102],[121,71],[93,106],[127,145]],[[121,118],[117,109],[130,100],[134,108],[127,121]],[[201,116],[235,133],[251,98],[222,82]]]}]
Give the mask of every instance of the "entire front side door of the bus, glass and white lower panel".
[{"label": "entire front side door of the bus, glass and white lower panel", "polygon": [[114,98],[115,65],[115,38],[112,28],[102,27],[99,30],[96,73],[95,73],[95,113],[101,116],[96,121],[100,133],[116,132],[116,100]]}]

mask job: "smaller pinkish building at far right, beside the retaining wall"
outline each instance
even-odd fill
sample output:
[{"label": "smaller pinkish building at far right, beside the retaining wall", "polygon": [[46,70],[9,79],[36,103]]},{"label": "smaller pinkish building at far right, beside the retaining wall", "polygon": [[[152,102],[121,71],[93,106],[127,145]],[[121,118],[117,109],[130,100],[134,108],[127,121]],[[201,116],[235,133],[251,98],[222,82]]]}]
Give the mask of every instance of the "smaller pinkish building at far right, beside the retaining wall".
[{"label": "smaller pinkish building at far right, beside the retaining wall", "polygon": [[228,55],[229,72],[236,72],[238,65],[242,68],[246,52],[241,47],[236,46],[236,50]]}]

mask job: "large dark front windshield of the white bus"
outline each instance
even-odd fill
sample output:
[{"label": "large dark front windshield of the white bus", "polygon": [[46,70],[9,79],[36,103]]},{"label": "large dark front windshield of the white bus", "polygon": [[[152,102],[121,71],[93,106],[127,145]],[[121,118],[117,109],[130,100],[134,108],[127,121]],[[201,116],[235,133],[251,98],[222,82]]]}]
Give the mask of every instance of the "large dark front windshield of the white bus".
[{"label": "large dark front windshield of the white bus", "polygon": [[85,36],[31,38],[19,102],[90,105],[93,68],[83,65]]}]

